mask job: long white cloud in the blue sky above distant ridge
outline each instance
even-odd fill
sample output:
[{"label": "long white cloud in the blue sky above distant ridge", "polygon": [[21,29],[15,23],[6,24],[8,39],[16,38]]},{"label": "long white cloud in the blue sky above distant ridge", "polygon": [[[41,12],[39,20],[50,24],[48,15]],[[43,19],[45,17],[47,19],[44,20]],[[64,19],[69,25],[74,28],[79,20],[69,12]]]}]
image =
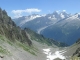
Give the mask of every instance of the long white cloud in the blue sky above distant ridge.
[{"label": "long white cloud in the blue sky above distant ridge", "polygon": [[30,8],[25,10],[12,10],[12,13],[15,15],[15,18],[21,17],[23,13],[34,13],[34,12],[41,12],[40,9],[37,8]]}]

